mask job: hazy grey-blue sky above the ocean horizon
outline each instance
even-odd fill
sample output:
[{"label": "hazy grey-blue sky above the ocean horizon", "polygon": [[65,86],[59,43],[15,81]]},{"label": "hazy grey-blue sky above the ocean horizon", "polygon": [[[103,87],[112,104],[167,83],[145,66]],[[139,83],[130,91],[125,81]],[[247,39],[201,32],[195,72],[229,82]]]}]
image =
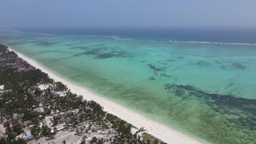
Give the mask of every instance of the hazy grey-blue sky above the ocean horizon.
[{"label": "hazy grey-blue sky above the ocean horizon", "polygon": [[0,0],[0,27],[256,26],[256,0]]}]

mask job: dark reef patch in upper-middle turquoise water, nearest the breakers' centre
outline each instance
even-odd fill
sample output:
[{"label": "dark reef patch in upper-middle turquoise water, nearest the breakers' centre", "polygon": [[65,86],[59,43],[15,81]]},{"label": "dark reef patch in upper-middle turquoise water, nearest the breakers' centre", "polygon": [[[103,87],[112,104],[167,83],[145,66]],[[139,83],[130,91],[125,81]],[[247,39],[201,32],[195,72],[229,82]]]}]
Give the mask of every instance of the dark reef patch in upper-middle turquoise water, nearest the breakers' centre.
[{"label": "dark reef patch in upper-middle turquoise water, nearest the breakers' centre", "polygon": [[76,54],[74,56],[82,56],[82,55],[95,55],[95,59],[107,59],[107,58],[112,58],[112,57],[131,57],[128,56],[123,51],[117,51],[114,49],[108,49],[108,48],[96,48],[96,49],[89,49],[86,50],[86,52],[82,52],[79,54]]}]

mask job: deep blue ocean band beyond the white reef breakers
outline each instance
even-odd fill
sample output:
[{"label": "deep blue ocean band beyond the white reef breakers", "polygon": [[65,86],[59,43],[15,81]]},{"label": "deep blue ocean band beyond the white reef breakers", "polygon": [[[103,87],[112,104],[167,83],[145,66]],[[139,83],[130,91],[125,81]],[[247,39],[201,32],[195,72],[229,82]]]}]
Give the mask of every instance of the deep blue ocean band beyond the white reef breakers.
[{"label": "deep blue ocean band beyond the white reef breakers", "polygon": [[172,28],[19,28],[29,33],[56,35],[118,36],[159,41],[214,43],[256,43],[256,28],[172,27]]}]

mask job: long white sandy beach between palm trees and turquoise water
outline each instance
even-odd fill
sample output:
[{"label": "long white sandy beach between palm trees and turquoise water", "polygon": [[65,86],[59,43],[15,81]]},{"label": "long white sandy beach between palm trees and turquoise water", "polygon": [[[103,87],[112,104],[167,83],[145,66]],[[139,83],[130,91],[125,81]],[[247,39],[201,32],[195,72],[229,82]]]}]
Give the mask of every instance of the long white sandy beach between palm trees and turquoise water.
[{"label": "long white sandy beach between palm trees and turquoise water", "polygon": [[[10,51],[14,51],[10,47],[9,49]],[[70,88],[71,92],[74,92],[78,95],[83,95],[83,97],[87,100],[97,101],[100,105],[104,107],[105,111],[108,111],[109,113],[116,115],[125,121],[128,121],[137,128],[146,128],[149,134],[158,137],[159,139],[161,139],[164,142],[167,142],[168,144],[201,144],[200,141],[188,137],[180,132],[174,131],[171,128],[168,128],[163,124],[159,124],[156,121],[149,120],[148,118],[139,115],[136,112],[125,108],[124,106],[118,105],[115,102],[99,97],[98,95],[93,94],[92,92],[88,91],[87,89],[81,86],[68,82],[67,80],[59,77],[53,72],[50,72],[49,70],[45,69],[36,61],[29,59],[26,56],[23,56],[19,52],[16,53],[20,58],[26,60],[28,63],[35,66],[37,69],[41,69],[43,72],[47,73],[50,76],[50,78],[54,79],[55,81],[60,81],[63,84],[67,85],[67,87]]]}]

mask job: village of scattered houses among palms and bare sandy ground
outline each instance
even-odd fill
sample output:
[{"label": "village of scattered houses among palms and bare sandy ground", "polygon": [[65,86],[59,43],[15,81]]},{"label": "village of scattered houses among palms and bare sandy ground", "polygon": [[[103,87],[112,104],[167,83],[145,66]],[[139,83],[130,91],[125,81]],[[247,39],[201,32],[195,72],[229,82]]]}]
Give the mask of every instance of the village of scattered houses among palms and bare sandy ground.
[{"label": "village of scattered houses among palms and bare sandy ground", "polygon": [[[111,140],[116,137],[115,129],[111,128],[112,124],[110,122],[107,122],[103,126],[95,124],[92,119],[92,115],[95,115],[93,108],[82,105],[79,105],[77,108],[62,108],[62,105],[68,105],[67,102],[62,103],[62,97],[70,94],[66,88],[64,88],[66,91],[51,92],[49,94],[50,89],[61,88],[62,86],[60,83],[50,85],[40,82],[36,84],[34,90],[27,90],[26,94],[19,94],[20,96],[30,95],[33,97],[34,105],[27,108],[27,110],[33,113],[33,115],[38,115],[38,118],[26,120],[24,118],[26,114],[24,113],[14,113],[12,117],[3,114],[1,123],[6,127],[3,132],[8,134],[9,131],[20,129],[19,131],[22,132],[16,136],[16,139],[21,138],[24,141],[29,141],[31,144],[37,141],[43,143],[56,142],[56,139],[58,140],[63,134],[66,137],[62,137],[59,140],[69,141],[70,138],[68,136],[70,136],[70,133],[75,135],[79,141],[82,141],[83,137],[86,137],[88,141],[92,141],[92,138],[97,136],[99,139],[102,139],[102,142],[108,141],[111,143]],[[79,100],[87,105],[87,101],[81,99],[81,97],[68,98],[68,101]],[[8,104],[9,101],[6,103]],[[74,103],[74,105],[76,104]],[[17,128],[17,126],[20,126],[20,128]],[[35,132],[38,130],[40,131]],[[142,131],[145,130],[141,128],[137,133]],[[40,138],[37,139],[35,137]],[[72,141],[74,141],[73,138]]]}]

